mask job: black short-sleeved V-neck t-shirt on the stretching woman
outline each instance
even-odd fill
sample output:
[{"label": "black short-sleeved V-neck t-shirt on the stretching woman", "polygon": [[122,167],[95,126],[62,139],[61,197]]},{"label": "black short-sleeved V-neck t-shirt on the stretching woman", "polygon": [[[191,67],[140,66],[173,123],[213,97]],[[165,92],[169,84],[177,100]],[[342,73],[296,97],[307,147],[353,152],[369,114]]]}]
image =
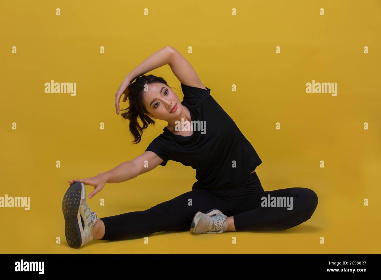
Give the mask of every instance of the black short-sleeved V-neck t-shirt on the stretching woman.
[{"label": "black short-sleeved V-neck t-shirt on the stretching woman", "polygon": [[210,88],[205,90],[181,83],[181,89],[184,94],[181,104],[189,109],[192,123],[200,121],[199,126],[191,125],[194,128],[191,136],[174,134],[165,126],[164,132],[146,151],[162,158],[162,166],[168,160],[192,166],[197,179],[192,189],[237,187],[262,160],[232,118],[210,95]]}]

